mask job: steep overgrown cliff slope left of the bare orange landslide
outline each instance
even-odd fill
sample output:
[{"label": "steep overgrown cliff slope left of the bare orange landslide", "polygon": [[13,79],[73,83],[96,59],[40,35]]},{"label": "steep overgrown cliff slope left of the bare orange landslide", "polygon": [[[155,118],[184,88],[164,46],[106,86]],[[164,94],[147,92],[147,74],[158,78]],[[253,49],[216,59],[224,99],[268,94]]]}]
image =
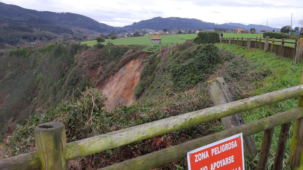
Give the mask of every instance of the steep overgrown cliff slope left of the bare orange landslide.
[{"label": "steep overgrown cliff slope left of the bare orange landslide", "polygon": [[25,124],[25,118],[38,110],[46,113],[61,100],[79,96],[86,86],[102,87],[129,61],[139,57],[140,63],[148,55],[142,48],[52,44],[18,49],[1,57],[0,135],[8,135],[17,123]]}]

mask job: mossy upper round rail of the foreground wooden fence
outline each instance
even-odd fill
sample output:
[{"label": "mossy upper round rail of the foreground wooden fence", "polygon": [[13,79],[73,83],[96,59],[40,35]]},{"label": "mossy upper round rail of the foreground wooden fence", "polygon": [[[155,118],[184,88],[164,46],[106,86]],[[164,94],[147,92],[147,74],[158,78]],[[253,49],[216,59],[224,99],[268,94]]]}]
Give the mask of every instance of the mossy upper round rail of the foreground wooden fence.
[{"label": "mossy upper round rail of the foreground wooden fence", "polygon": [[[79,157],[91,155],[97,152],[127,145],[129,143],[148,139],[164,133],[191,127],[200,123],[220,119],[222,117],[256,109],[262,106],[267,106],[273,103],[278,103],[302,95],[303,85],[298,85],[295,87],[290,87],[287,89],[71,142],[67,144],[65,160],[69,161]],[[8,162],[10,163],[8,164]],[[6,167],[10,165],[9,169],[37,169],[41,166],[41,161],[36,152],[31,152],[11,158],[0,159],[0,167],[4,167],[4,165],[6,165]]]}]

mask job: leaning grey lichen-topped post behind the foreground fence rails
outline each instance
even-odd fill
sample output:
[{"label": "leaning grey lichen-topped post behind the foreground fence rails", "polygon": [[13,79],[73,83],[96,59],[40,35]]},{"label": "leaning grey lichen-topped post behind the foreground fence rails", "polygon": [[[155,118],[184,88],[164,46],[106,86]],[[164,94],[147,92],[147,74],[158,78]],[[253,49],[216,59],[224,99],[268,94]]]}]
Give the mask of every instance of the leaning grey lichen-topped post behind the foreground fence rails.
[{"label": "leaning grey lichen-topped post behind the foreground fence rails", "polygon": [[[206,87],[214,106],[235,101],[223,77],[208,81]],[[225,129],[245,124],[241,113],[221,118],[221,120]],[[246,153],[250,155],[251,159],[254,158],[258,153],[254,140],[251,136],[247,136],[243,141]]]}]

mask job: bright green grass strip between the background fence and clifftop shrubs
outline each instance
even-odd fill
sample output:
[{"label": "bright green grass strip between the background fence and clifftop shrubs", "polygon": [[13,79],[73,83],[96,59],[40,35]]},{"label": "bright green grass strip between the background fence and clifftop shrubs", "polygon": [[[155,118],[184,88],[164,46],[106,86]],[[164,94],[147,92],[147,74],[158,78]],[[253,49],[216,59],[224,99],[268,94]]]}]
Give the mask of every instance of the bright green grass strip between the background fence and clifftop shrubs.
[{"label": "bright green grass strip between the background fence and clifftop shrubs", "polygon": [[[257,96],[264,93],[269,93],[276,90],[285,89],[288,87],[293,87],[300,84],[300,78],[302,73],[303,64],[294,64],[294,60],[279,57],[273,53],[266,52],[264,53],[262,50],[251,49],[248,50],[246,47],[240,47],[232,44],[228,46],[228,44],[217,44],[218,47],[223,48],[225,50],[231,51],[238,55],[243,55],[249,60],[253,61],[257,70],[263,70],[267,75],[265,80],[262,82],[256,82],[256,89],[253,92],[250,92],[251,95]],[[258,119],[262,119],[264,117],[268,117],[277,113],[284,112],[286,110],[293,109],[297,106],[298,99],[286,100],[283,102],[275,103],[269,106],[264,106],[255,110],[250,110],[242,113],[242,116],[246,123],[252,122]],[[286,145],[286,154],[284,156],[283,161],[283,169],[290,169],[288,165],[288,153],[291,145],[291,136],[293,131],[294,122],[291,123],[291,129],[288,136],[288,141]],[[278,143],[278,136],[280,132],[280,126],[275,127],[275,131],[273,134],[272,142],[271,142],[271,153],[269,155],[268,169],[272,168],[275,151]],[[253,135],[253,139],[255,140],[256,146],[258,149],[261,148],[263,132],[257,133]],[[258,155],[257,155],[258,157]],[[253,161],[246,160],[246,163],[249,165],[249,169],[254,169],[257,164],[257,158]]]}]

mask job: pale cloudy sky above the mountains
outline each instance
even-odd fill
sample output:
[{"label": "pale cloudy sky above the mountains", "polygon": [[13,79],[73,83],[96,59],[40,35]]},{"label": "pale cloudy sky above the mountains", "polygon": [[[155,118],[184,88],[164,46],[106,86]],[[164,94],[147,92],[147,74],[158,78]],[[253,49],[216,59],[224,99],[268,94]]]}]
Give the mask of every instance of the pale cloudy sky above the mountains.
[{"label": "pale cloudy sky above the mountains", "polygon": [[218,24],[235,22],[281,28],[298,26],[303,18],[302,0],[0,0],[38,11],[72,12],[96,21],[125,26],[154,17],[197,18]]}]

